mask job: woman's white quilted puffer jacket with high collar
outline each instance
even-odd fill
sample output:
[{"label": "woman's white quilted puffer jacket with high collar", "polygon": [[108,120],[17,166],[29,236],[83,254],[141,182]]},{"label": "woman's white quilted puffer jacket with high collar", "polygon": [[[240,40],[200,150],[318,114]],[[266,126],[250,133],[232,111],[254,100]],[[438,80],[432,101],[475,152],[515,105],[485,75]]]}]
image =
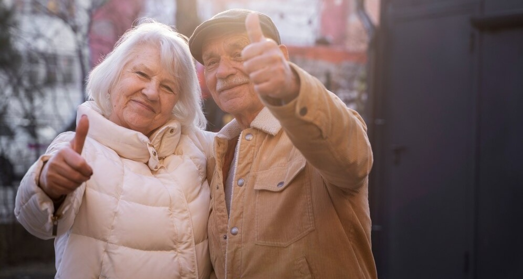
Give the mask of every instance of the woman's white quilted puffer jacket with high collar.
[{"label": "woman's white quilted puffer jacket with high collar", "polygon": [[[107,120],[93,102],[78,107],[77,119],[84,114],[82,155],[94,174],[56,212],[55,278],[208,278],[206,154],[213,134],[170,120],[147,138]],[[52,238],[55,214],[38,177],[73,136],[59,135],[18,189],[15,215],[42,239]]]}]

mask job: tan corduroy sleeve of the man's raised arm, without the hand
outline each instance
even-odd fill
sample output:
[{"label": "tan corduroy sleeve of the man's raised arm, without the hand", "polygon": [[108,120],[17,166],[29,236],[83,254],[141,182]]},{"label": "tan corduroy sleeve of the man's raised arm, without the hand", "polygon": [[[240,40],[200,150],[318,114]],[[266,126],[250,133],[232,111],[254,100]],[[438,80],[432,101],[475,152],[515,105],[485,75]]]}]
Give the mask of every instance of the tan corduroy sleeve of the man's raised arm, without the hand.
[{"label": "tan corduroy sleeve of the man's raised arm, without the hand", "polygon": [[319,80],[291,66],[301,81],[298,96],[282,106],[272,105],[265,98],[262,101],[326,181],[356,190],[367,181],[372,166],[365,122]]}]

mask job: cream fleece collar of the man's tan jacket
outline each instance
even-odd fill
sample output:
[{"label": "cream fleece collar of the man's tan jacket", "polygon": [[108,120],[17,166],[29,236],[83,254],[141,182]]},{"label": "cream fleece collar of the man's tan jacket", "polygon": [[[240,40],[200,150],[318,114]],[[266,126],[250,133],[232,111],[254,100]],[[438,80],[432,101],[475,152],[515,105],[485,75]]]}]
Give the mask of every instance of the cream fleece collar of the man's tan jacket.
[{"label": "cream fleece collar of the man's tan jacket", "polygon": [[[281,129],[281,124],[280,121],[278,121],[278,119],[276,119],[276,117],[270,113],[270,110],[267,107],[264,107],[251,122],[251,128],[255,128],[272,136],[276,136],[276,134]],[[231,140],[240,135],[241,132],[242,127],[240,127],[240,124],[238,124],[236,119],[233,119],[220,130],[217,137]]]}]

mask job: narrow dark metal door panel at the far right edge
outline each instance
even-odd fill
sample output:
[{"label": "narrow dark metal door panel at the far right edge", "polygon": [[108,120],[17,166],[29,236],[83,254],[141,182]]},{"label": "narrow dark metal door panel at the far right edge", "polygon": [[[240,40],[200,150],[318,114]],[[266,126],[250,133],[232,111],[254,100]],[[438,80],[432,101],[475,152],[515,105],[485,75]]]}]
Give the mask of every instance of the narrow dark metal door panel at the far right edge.
[{"label": "narrow dark metal door panel at the far right edge", "polygon": [[487,0],[479,31],[475,278],[523,278],[523,1]]}]

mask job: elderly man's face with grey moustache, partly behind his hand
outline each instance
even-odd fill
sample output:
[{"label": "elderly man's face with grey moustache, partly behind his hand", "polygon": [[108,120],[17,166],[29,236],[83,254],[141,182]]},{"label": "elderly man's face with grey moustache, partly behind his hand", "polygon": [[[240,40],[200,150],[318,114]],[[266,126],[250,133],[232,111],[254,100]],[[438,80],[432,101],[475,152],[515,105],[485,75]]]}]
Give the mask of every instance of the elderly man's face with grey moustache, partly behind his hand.
[{"label": "elderly man's face with grey moustache, partly behind his hand", "polygon": [[214,102],[233,116],[256,116],[263,108],[243,69],[242,50],[247,34],[231,33],[207,39],[202,45],[205,80]]}]

